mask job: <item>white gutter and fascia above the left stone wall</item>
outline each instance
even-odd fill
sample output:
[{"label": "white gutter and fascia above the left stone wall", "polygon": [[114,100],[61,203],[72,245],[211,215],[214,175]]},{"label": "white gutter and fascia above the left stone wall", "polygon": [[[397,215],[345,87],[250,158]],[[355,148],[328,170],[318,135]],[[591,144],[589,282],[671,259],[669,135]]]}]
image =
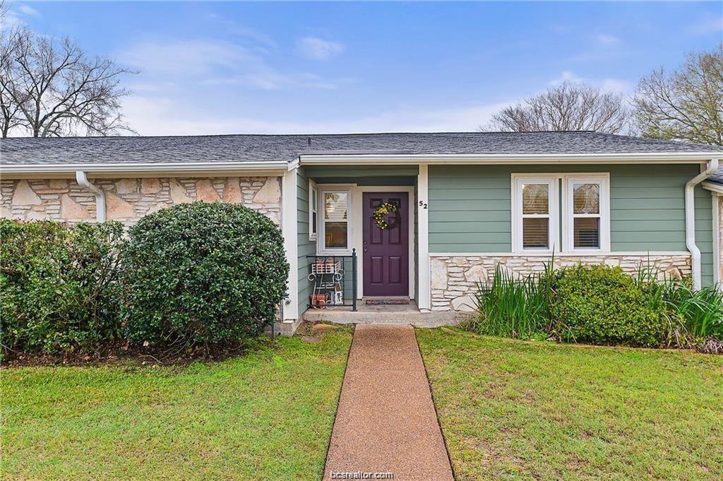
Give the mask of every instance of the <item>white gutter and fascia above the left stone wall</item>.
[{"label": "white gutter and fascia above the left stone wall", "polygon": [[0,174],[88,174],[287,171],[288,162],[188,162],[188,163],[15,163],[0,165]]}]

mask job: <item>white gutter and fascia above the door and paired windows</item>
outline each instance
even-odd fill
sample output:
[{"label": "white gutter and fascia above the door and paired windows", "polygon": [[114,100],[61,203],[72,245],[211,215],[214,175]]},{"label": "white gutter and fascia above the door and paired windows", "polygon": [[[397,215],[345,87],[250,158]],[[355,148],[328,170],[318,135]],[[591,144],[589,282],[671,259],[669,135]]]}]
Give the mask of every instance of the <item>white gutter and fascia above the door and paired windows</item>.
[{"label": "white gutter and fascia above the door and paired windows", "polygon": [[416,164],[524,164],[524,163],[701,163],[723,152],[675,153],[544,153],[544,154],[302,154],[301,165],[354,165],[358,163]]}]

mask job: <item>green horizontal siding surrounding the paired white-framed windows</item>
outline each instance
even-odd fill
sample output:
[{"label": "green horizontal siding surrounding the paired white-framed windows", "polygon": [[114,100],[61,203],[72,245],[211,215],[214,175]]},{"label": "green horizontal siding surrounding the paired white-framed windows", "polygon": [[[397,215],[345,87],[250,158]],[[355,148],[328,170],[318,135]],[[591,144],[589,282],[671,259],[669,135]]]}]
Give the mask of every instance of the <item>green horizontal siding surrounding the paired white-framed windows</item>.
[{"label": "green horizontal siding surrounding the paired white-framed windows", "polygon": [[[613,252],[685,251],[685,182],[698,165],[429,166],[429,252],[510,252],[513,173],[610,173]],[[713,279],[711,195],[696,190],[703,282]]]}]

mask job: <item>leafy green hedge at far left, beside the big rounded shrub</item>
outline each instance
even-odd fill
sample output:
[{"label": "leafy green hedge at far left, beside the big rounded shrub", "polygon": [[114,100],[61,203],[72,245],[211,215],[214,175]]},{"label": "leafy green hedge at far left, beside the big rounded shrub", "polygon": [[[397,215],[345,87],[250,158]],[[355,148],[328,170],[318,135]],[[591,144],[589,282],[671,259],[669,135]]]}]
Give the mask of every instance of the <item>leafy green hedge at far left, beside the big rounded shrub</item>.
[{"label": "leafy green hedge at far left, beside the big rounded shrub", "polygon": [[0,219],[0,343],[88,350],[118,338],[121,224]]}]

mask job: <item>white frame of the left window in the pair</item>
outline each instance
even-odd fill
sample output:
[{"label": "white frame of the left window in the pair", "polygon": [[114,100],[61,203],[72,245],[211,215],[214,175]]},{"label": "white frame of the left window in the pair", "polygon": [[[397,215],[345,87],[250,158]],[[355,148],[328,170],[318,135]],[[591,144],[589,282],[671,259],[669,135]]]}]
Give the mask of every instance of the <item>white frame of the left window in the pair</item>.
[{"label": "white frame of the left window in the pair", "polygon": [[[522,185],[523,184],[547,184],[549,195],[547,197],[547,215],[527,214],[524,218],[544,217],[549,218],[547,224],[547,245],[548,248],[531,249],[522,246]],[[559,202],[560,197],[557,185],[559,176],[551,174],[512,174],[512,247],[513,252],[520,253],[552,253],[559,250],[560,218]]]}]

